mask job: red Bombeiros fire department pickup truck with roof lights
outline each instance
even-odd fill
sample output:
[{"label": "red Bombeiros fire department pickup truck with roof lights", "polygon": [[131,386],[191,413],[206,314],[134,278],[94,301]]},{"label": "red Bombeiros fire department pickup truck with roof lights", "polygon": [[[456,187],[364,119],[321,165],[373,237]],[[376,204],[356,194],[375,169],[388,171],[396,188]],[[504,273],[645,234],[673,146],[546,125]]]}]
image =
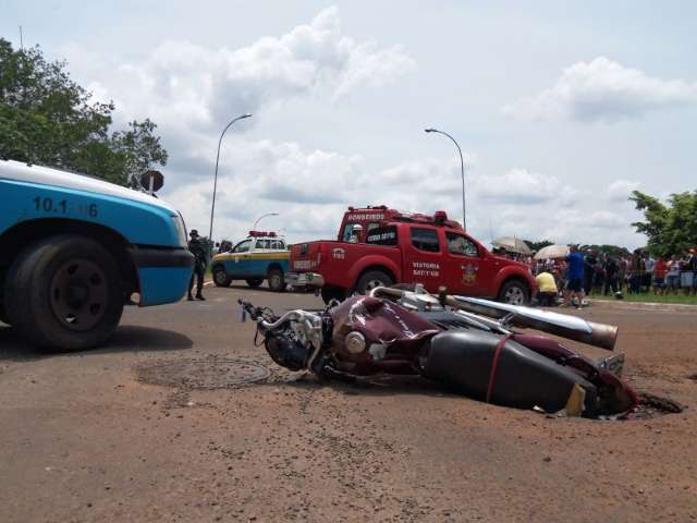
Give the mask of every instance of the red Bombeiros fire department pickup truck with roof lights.
[{"label": "red Bombeiros fire department pickup truck with roof lights", "polygon": [[444,285],[451,294],[516,305],[536,290],[527,266],[494,256],[442,210],[348,207],[337,241],[294,245],[290,265],[291,284],[320,288],[326,302],[395,283],[423,283],[430,292]]}]

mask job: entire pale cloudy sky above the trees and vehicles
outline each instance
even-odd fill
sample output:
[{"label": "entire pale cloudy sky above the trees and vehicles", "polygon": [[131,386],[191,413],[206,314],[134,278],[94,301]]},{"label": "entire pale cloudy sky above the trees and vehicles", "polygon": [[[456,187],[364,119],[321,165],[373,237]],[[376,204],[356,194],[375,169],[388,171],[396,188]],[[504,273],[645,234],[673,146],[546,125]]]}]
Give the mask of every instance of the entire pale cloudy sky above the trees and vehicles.
[{"label": "entire pale cloudy sky above the trees and vehicles", "polygon": [[497,235],[644,239],[626,202],[695,190],[694,2],[3,1],[0,36],[69,60],[150,117],[170,162],[162,196],[216,236],[265,212],[291,241],[331,236],[347,205],[445,209]]}]

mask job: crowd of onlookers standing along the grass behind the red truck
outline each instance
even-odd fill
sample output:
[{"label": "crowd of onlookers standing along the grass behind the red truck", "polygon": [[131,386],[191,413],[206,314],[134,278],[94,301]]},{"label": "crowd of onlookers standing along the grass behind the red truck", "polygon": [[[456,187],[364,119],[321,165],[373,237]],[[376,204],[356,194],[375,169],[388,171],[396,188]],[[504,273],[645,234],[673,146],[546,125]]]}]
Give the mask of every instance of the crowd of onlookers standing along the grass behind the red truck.
[{"label": "crowd of onlookers standing along the grass behind the red truck", "polygon": [[538,301],[554,305],[559,297],[563,303],[583,303],[588,295],[614,295],[652,292],[657,295],[697,295],[697,248],[686,250],[670,257],[651,256],[637,250],[629,255],[613,256],[592,248],[579,251],[570,245],[568,255],[554,259],[535,259],[518,256],[536,276],[539,287]]}]

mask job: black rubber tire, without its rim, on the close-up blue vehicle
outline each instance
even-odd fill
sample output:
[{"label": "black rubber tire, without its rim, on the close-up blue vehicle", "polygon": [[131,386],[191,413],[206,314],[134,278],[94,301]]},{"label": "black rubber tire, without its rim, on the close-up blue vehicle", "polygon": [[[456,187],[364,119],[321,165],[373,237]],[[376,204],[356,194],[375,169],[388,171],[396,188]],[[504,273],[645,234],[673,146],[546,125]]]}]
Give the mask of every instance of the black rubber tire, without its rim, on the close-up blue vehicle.
[{"label": "black rubber tire, without its rim, on the close-up blue vehicle", "polygon": [[[71,259],[98,266],[109,296],[99,321],[84,331],[61,325],[50,304],[51,281]],[[10,268],[4,292],[13,327],[30,344],[47,350],[93,349],[113,333],[123,313],[121,275],[113,256],[94,240],[76,234],[49,236],[26,247]]]}]

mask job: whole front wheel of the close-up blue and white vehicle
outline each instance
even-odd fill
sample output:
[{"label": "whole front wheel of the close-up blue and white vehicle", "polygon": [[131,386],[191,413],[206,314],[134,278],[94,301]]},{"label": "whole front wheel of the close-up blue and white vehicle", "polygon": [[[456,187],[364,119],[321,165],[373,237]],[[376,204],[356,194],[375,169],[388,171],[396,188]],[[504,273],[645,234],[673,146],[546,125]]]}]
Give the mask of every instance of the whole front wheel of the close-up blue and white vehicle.
[{"label": "whole front wheel of the close-up blue and white vehicle", "polygon": [[123,312],[119,267],[99,243],[76,234],[28,246],[5,282],[10,321],[32,344],[78,351],[111,336]]}]

